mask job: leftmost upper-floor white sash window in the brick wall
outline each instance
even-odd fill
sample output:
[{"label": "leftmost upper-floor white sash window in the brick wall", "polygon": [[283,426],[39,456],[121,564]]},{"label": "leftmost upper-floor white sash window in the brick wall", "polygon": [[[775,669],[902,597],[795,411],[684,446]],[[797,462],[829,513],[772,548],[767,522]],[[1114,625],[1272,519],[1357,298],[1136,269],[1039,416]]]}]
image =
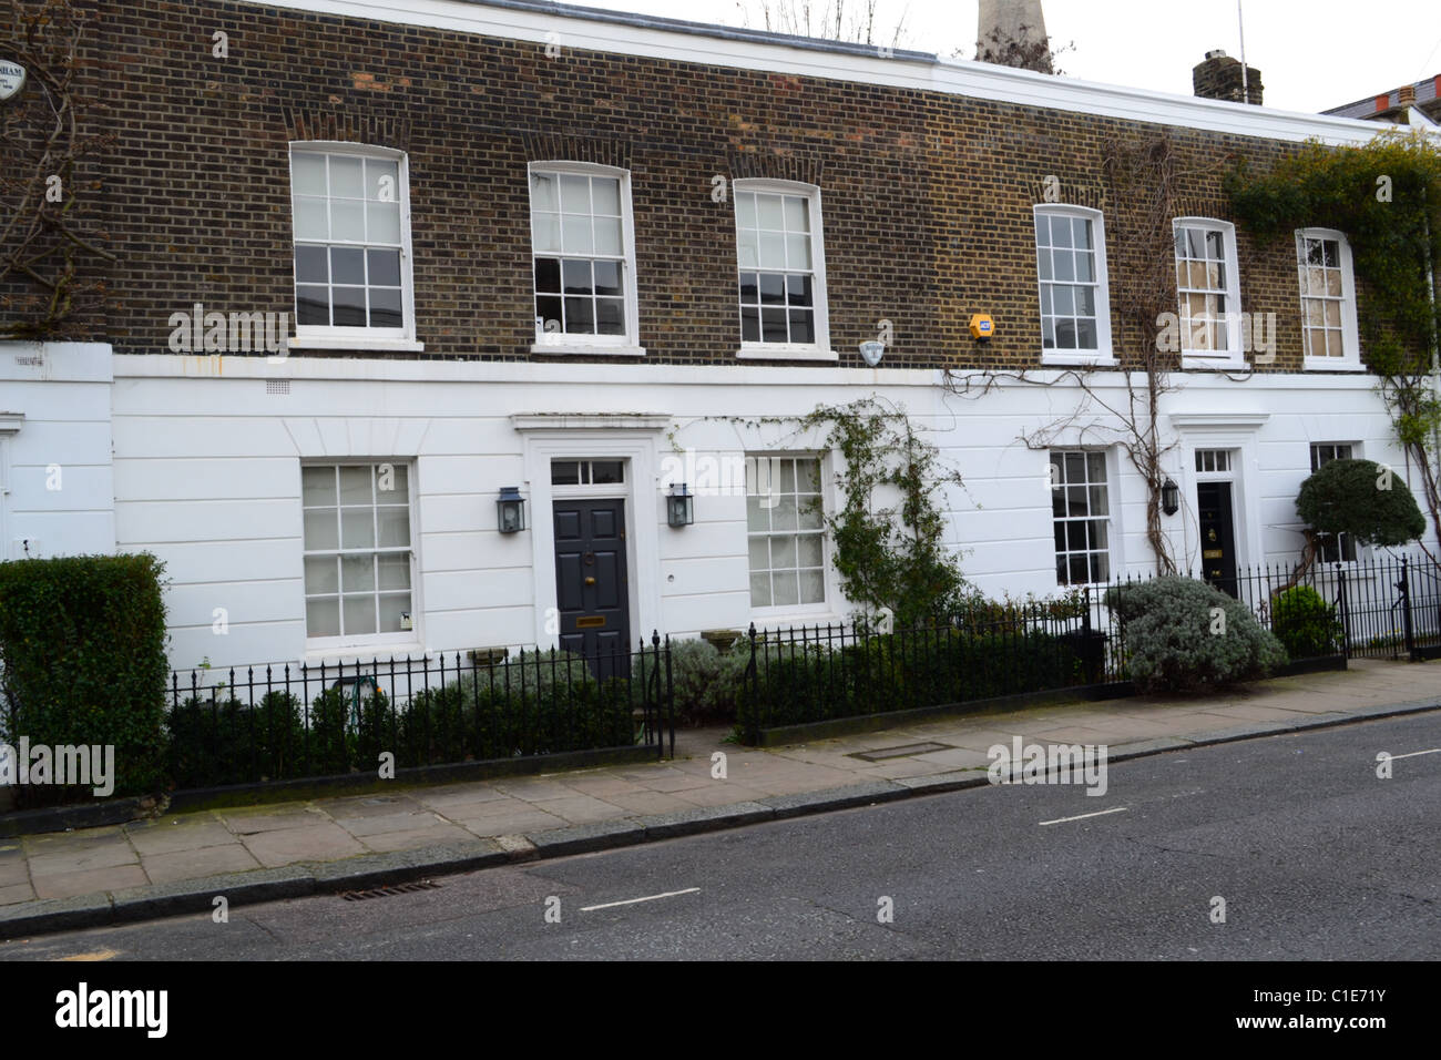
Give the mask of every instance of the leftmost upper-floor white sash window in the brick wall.
[{"label": "leftmost upper-floor white sash window in the brick wall", "polygon": [[295,345],[415,337],[405,156],[291,144]]}]

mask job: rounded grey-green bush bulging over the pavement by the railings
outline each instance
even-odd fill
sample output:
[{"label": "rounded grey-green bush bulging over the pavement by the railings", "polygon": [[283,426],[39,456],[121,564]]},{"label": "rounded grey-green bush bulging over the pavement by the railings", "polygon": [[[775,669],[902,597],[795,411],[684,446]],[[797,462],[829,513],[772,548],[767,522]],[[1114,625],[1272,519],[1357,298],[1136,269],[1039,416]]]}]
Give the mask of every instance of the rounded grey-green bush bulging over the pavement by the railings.
[{"label": "rounded grey-green bush bulging over the pavement by the railings", "polygon": [[1193,692],[1264,678],[1285,662],[1251,610],[1205,581],[1177,575],[1107,591],[1127,666],[1141,692]]}]

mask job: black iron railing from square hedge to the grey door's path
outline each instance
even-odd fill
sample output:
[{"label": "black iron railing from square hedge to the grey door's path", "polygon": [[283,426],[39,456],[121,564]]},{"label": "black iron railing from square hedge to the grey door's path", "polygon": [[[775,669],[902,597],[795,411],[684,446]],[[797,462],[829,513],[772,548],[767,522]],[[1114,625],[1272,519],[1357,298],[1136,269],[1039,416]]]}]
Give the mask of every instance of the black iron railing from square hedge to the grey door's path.
[{"label": "black iron railing from square hedge to the grey door's path", "polygon": [[670,639],[595,658],[445,653],[171,673],[177,787],[566,751],[674,753]]}]

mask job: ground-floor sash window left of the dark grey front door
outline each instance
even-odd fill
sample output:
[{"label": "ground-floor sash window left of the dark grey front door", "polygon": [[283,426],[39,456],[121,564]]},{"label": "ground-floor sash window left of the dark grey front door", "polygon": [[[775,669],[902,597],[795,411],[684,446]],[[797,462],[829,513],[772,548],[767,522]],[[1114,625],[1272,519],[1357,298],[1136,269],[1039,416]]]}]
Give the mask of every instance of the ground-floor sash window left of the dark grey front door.
[{"label": "ground-floor sash window left of the dark grey front door", "polygon": [[305,464],[300,477],[305,635],[353,640],[409,630],[409,467]]}]

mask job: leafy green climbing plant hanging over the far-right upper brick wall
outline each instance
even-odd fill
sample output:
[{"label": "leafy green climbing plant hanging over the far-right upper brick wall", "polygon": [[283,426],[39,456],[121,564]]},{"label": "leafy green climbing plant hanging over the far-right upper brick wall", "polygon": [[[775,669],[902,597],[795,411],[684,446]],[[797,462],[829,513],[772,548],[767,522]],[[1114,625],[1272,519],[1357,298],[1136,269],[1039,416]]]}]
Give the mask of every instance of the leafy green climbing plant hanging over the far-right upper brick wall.
[{"label": "leafy green climbing plant hanging over the far-right upper brick wall", "polygon": [[[1241,157],[1226,177],[1235,213],[1262,239],[1298,228],[1346,234],[1362,284],[1362,350],[1391,410],[1396,440],[1419,472],[1441,534],[1437,482],[1437,286],[1441,260],[1441,146],[1418,130],[1389,130],[1357,147],[1308,143],[1267,172]],[[1441,565],[1441,557],[1427,554]]]}]

